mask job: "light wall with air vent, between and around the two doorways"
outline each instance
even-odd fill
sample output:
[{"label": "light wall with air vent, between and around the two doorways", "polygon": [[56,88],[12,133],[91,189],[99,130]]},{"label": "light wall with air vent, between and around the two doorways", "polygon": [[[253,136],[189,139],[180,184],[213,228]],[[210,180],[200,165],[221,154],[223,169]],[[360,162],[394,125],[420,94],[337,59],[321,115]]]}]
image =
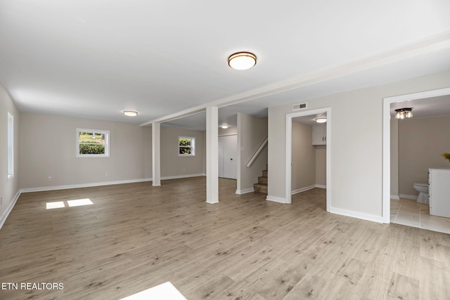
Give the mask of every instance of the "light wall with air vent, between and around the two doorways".
[{"label": "light wall with air vent, between and around the two doorways", "polygon": [[268,197],[285,198],[285,115],[307,100],[309,109],[330,107],[330,211],[382,220],[383,98],[448,86],[450,71],[269,107]]}]

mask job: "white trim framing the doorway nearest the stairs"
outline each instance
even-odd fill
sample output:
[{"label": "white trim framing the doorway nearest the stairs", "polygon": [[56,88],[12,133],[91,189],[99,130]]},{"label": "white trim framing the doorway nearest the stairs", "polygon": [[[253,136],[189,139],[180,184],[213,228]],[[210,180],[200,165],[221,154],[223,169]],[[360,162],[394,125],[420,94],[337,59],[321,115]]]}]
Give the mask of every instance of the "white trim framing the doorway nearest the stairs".
[{"label": "white trim framing the doorway nearest the stairs", "polygon": [[[293,118],[326,113],[326,211],[331,207],[331,107],[303,110],[286,114],[286,159],[285,159],[285,203],[292,202],[292,147]],[[312,141],[311,141],[312,143]]]}]

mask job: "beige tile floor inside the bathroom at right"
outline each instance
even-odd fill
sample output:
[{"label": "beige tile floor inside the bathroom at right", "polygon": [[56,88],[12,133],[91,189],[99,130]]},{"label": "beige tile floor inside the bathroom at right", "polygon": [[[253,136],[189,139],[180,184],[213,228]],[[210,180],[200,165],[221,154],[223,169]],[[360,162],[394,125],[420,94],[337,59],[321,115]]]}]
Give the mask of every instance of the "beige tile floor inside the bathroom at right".
[{"label": "beige tile floor inside the bathroom at right", "polygon": [[428,204],[411,199],[391,199],[391,223],[450,233],[450,218],[430,216]]}]

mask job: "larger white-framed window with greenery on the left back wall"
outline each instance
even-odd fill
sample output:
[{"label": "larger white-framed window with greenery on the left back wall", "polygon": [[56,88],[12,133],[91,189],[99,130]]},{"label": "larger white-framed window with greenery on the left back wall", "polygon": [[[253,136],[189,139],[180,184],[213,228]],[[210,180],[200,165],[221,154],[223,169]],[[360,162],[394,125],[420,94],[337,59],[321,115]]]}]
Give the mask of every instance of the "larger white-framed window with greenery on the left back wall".
[{"label": "larger white-framed window with greenery on the left back wall", "polygon": [[110,157],[110,131],[77,129],[77,157]]}]

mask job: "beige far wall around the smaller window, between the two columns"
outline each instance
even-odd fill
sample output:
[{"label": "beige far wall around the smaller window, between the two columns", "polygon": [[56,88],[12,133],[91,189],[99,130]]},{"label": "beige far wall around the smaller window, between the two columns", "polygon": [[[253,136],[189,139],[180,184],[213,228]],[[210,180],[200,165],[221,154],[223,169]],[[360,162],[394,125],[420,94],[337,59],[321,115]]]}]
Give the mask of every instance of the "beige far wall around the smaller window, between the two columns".
[{"label": "beige far wall around the smaller window, between the two columns", "polygon": [[[179,136],[195,138],[195,156],[178,155]],[[161,127],[161,177],[181,177],[206,173],[205,131]]]}]

